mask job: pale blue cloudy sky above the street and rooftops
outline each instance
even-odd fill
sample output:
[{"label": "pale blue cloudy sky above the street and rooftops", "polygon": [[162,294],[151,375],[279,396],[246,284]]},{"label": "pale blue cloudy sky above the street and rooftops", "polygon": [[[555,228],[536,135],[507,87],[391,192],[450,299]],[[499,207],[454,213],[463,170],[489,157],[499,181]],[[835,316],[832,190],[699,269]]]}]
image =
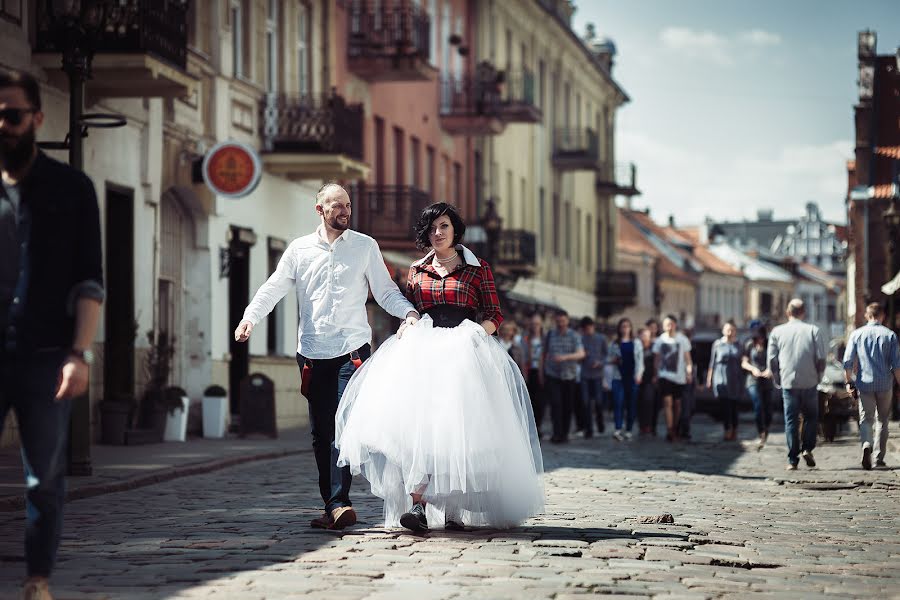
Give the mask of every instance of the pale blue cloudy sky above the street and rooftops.
[{"label": "pale blue cloudy sky above the street and rooftops", "polygon": [[617,48],[619,162],[636,208],[678,224],[796,218],[816,202],[846,222],[857,32],[900,45],[900,0],[576,0]]}]

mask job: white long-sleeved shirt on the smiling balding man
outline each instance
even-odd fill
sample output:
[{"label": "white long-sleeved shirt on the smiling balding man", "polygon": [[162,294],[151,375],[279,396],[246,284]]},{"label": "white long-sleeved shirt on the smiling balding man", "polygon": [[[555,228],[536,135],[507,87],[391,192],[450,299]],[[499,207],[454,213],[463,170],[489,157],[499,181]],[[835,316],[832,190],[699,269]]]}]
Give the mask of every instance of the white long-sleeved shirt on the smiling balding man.
[{"label": "white long-sleeved shirt on the smiling balding man", "polygon": [[333,244],[315,233],[291,242],[272,276],[244,311],[255,327],[294,288],[300,312],[297,352],[307,358],[342,356],[372,341],[366,313],[369,289],[387,312],[402,319],[412,304],[391,279],[378,243],[347,229]]}]

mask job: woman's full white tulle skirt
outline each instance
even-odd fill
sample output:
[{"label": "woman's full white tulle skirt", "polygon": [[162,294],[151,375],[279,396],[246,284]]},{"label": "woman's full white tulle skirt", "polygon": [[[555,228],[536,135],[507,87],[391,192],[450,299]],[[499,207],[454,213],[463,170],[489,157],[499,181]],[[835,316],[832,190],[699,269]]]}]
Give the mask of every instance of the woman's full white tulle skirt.
[{"label": "woman's full white tulle skirt", "polygon": [[543,512],[543,459],[525,381],[481,326],[434,327],[426,315],[385,341],[338,407],[338,465],[362,473],[399,527],[421,493],[444,518],[511,527]]}]

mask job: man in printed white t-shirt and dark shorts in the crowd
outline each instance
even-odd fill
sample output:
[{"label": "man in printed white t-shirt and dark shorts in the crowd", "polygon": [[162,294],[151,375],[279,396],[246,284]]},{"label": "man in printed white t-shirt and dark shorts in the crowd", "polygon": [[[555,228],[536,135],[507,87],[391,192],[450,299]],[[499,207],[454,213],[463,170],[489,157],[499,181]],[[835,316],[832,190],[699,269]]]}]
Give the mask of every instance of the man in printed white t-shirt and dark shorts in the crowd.
[{"label": "man in printed white t-shirt and dark shorts in the crowd", "polygon": [[666,416],[666,439],[678,441],[681,423],[681,400],[685,387],[693,381],[694,363],[691,342],[678,331],[678,319],[668,315],[663,319],[663,332],[653,342],[656,382]]}]

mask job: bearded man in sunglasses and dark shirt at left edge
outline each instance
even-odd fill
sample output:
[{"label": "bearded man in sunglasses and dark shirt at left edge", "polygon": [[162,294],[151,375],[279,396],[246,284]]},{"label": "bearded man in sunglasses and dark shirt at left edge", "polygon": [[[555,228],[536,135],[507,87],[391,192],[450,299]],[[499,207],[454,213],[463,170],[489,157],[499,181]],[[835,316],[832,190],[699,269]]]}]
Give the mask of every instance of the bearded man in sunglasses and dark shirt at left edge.
[{"label": "bearded man in sunglasses and dark shirt at left edge", "polygon": [[43,122],[37,81],[0,73],[0,427],[15,412],[32,600],[51,598],[71,401],[88,390],[104,297],[94,184],[38,150]]}]

